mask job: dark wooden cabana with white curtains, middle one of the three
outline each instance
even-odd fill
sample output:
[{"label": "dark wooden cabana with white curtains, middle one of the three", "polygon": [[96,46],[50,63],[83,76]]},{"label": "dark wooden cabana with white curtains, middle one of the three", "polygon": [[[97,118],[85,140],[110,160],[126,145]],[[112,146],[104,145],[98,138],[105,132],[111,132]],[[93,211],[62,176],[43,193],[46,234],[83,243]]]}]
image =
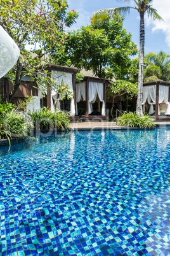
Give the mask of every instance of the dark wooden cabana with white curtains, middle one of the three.
[{"label": "dark wooden cabana with white curtains, middle one of the three", "polygon": [[[83,73],[83,71],[82,71]],[[77,103],[83,99],[86,101],[86,114],[82,117],[83,120],[106,120],[106,102],[107,102],[107,84],[109,80],[103,78],[96,78],[93,76],[84,76],[84,80],[81,83],[76,84],[76,115],[79,115]],[[93,103],[95,103],[98,97],[98,110],[100,110],[101,104],[101,115],[93,114]]]}]

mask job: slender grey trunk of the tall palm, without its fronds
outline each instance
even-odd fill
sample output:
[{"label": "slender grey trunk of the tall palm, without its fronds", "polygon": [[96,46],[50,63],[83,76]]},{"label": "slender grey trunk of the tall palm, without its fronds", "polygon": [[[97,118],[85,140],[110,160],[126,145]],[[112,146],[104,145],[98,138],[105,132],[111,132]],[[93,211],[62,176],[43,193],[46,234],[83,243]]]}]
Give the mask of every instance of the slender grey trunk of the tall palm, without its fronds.
[{"label": "slender grey trunk of the tall palm, without its fronds", "polygon": [[144,12],[140,13],[140,60],[139,60],[139,73],[138,73],[138,98],[136,104],[136,113],[142,113],[142,94],[143,94],[143,59],[144,59],[144,45],[145,45],[145,24]]}]

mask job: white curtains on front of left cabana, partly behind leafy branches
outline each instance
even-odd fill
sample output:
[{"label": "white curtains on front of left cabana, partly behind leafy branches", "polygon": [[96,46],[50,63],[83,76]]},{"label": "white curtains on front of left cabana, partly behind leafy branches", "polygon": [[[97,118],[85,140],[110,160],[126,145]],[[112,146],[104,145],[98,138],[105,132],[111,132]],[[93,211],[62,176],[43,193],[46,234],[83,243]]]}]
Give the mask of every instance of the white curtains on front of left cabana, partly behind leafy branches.
[{"label": "white curtains on front of left cabana, partly behind leafy branches", "polygon": [[[69,90],[70,92],[73,93],[73,85],[72,85],[72,73],[65,73],[63,75],[62,72],[56,72],[56,71],[52,71],[52,76],[53,79],[56,81],[57,85],[60,85],[62,82],[65,82],[65,85],[69,85]],[[56,86],[57,86],[56,85]],[[55,107],[53,104],[53,99],[55,101],[57,101],[56,103],[56,108],[58,108],[58,110],[60,110],[60,96],[56,97],[56,90],[55,88],[53,90],[51,90],[51,110],[54,111]],[[70,102],[70,115],[74,116],[75,115],[75,104],[74,104],[74,98],[71,99]]]}]

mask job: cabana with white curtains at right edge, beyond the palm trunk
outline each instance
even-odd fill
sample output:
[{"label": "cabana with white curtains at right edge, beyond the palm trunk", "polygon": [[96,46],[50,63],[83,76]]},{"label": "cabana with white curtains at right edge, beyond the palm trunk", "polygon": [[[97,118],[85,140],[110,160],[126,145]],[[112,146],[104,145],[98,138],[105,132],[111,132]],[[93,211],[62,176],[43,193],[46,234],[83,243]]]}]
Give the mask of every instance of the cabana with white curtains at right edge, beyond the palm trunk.
[{"label": "cabana with white curtains at right edge, beyond the palm trunk", "polygon": [[[155,118],[156,119],[170,119],[170,83],[158,80],[156,82],[143,83],[143,102],[150,104],[149,115],[154,113],[155,105]],[[160,104],[167,104],[165,115],[166,117],[160,117]]]}]

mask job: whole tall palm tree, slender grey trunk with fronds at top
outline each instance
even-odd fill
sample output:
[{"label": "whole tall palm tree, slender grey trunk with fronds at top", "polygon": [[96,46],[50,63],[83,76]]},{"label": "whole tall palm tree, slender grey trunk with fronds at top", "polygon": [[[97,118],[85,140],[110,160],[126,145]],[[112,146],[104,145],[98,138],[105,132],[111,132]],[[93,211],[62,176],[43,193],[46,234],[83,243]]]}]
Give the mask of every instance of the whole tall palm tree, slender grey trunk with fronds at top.
[{"label": "whole tall palm tree, slender grey trunk with fronds at top", "polygon": [[[122,0],[124,2],[129,2],[131,0]],[[162,20],[157,11],[152,8],[153,0],[133,0],[136,4],[135,7],[126,6],[119,8],[110,8],[95,11],[93,17],[91,18],[91,23],[95,24],[99,20],[103,21],[107,17],[114,17],[116,13],[127,13],[130,9],[134,9],[140,13],[140,57],[139,57],[139,73],[138,73],[138,98],[136,104],[136,113],[140,115],[142,113],[142,92],[143,92],[143,59],[144,59],[144,46],[145,46],[145,22],[144,15],[148,14],[148,17],[154,18],[155,20]]]}]

